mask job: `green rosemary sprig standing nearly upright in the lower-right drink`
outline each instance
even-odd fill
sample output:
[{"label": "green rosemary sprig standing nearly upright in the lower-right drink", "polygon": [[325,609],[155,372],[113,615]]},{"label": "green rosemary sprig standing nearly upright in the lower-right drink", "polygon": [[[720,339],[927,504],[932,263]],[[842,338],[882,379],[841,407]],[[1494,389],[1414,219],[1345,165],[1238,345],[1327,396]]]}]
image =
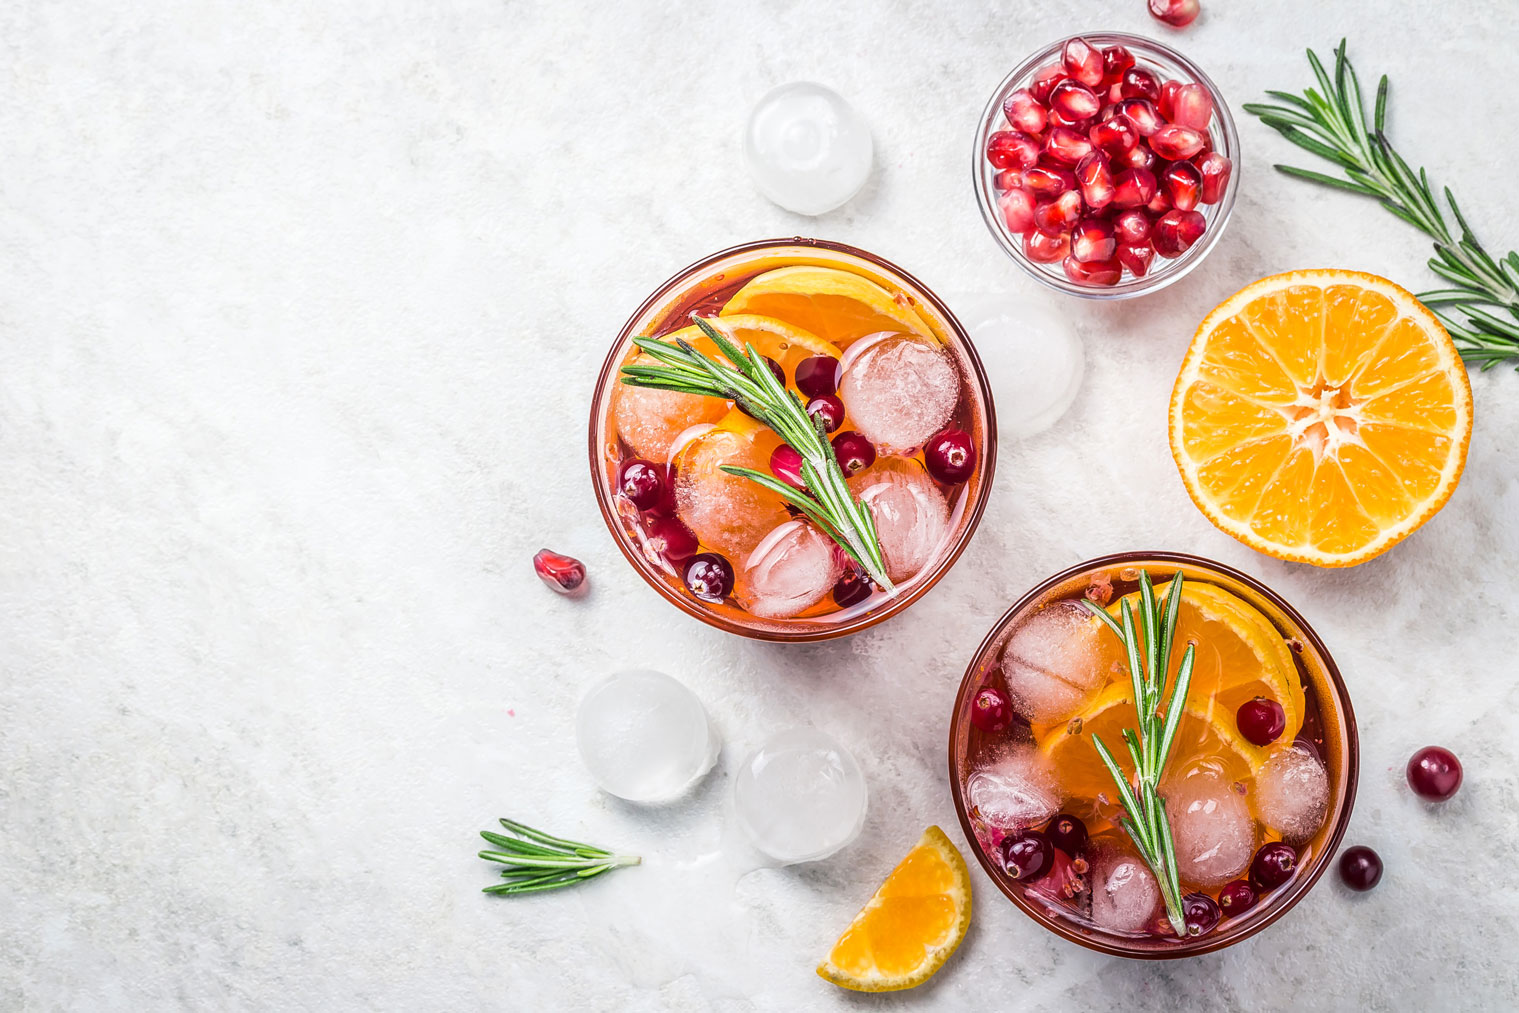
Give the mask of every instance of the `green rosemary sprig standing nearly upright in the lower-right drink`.
[{"label": "green rosemary sprig standing nearly upright in the lower-right drink", "polygon": [[1192,682],[1192,645],[1186,645],[1182,655],[1182,665],[1176,671],[1176,683],[1171,686],[1171,699],[1161,712],[1161,693],[1165,690],[1165,673],[1171,664],[1171,649],[1176,645],[1176,615],[1182,604],[1182,574],[1171,579],[1171,586],[1165,595],[1165,604],[1156,601],[1154,586],[1150,583],[1148,571],[1139,571],[1139,623],[1144,629],[1144,656],[1141,658],[1139,636],[1135,629],[1133,606],[1124,604],[1123,626],[1113,617],[1088,600],[1082,600],[1094,615],[1107,623],[1109,629],[1118,635],[1129,655],[1129,676],[1133,679],[1135,714],[1139,724],[1138,734],[1124,729],[1124,743],[1129,746],[1129,758],[1135,764],[1133,782],[1124,776],[1118,761],[1103,744],[1103,740],[1092,734],[1092,746],[1097,747],[1103,765],[1113,776],[1118,796],[1123,800],[1126,816],[1118,817],[1120,826],[1127,831],[1139,857],[1150,866],[1154,879],[1161,884],[1161,896],[1165,901],[1165,914],[1171,920],[1171,928],[1177,936],[1186,936],[1186,917],[1182,913],[1182,884],[1176,875],[1176,846],[1171,841],[1171,823],[1165,816],[1165,799],[1157,794],[1161,775],[1165,773],[1165,761],[1171,755],[1171,743],[1176,740],[1176,729],[1182,723],[1186,711],[1186,690]]}]

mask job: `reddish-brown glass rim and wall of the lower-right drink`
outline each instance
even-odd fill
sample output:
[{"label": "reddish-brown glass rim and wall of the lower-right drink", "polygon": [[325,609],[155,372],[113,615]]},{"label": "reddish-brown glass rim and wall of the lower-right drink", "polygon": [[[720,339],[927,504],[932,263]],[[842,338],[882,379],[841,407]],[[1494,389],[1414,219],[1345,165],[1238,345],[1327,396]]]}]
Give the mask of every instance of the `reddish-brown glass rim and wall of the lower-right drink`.
[{"label": "reddish-brown glass rim and wall of the lower-right drink", "polygon": [[[1220,920],[1218,926],[1206,936],[1186,940],[1107,933],[1083,925],[1074,917],[1050,908],[1047,904],[1027,898],[1024,887],[1010,879],[1001,870],[1000,863],[986,854],[965,797],[965,781],[971,773],[971,759],[983,747],[984,740],[984,734],[971,723],[971,703],[981,688],[986,674],[996,667],[1003,645],[1013,627],[1027,615],[1051,601],[1078,597],[1094,576],[1104,574],[1113,583],[1118,583],[1120,580],[1136,579],[1136,571],[1141,568],[1148,570],[1156,582],[1162,576],[1168,579],[1176,571],[1182,571],[1189,582],[1197,580],[1217,585],[1259,609],[1276,626],[1293,650],[1305,694],[1311,702],[1317,703],[1318,717],[1322,718],[1317,724],[1314,721],[1306,723],[1299,734],[1299,740],[1306,737],[1312,741],[1329,773],[1328,813],[1318,831],[1299,847],[1299,866],[1293,879],[1246,913]],[[1312,708],[1309,708],[1311,711]],[[1120,762],[1124,768],[1129,768],[1126,759]],[[1344,688],[1344,680],[1340,677],[1340,670],[1325,649],[1323,641],[1318,639],[1318,635],[1314,633],[1312,627],[1308,626],[1293,606],[1253,577],[1209,559],[1185,553],[1120,553],[1103,556],[1101,559],[1071,566],[1039,583],[1003,614],[992,627],[992,632],[986,635],[986,639],[975,650],[975,656],[966,668],[960,691],[955,696],[954,712],[949,720],[949,784],[954,794],[954,806],[960,816],[960,826],[965,831],[966,840],[971,843],[971,849],[975,852],[986,875],[1007,895],[1009,901],[1056,936],[1118,957],[1165,960],[1208,954],[1249,939],[1287,914],[1334,861],[1340,840],[1344,837],[1346,826],[1350,822],[1358,770],[1360,740],[1355,729],[1355,712],[1350,708],[1350,696]]]}]

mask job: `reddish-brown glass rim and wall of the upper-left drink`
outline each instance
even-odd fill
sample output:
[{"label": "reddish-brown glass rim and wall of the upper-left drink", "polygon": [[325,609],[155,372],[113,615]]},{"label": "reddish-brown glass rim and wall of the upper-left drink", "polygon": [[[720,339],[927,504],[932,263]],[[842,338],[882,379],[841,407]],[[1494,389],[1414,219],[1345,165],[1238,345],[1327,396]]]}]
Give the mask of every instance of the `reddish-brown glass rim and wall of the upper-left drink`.
[{"label": "reddish-brown glass rim and wall of the upper-left drink", "polygon": [[[863,275],[883,286],[899,302],[911,305],[955,360],[962,383],[962,409],[955,424],[966,430],[980,450],[975,474],[949,494],[949,530],[939,550],[910,580],[898,583],[895,597],[875,595],[855,606],[825,615],[764,618],[726,601],[709,604],[693,597],[681,573],[656,553],[646,551],[639,539],[639,515],[615,495],[614,481],[620,460],[615,424],[611,419],[611,393],[618,369],[633,352],[632,339],[662,336],[690,322],[699,308],[714,308],[749,278],[793,264],[820,264]],[[883,623],[924,597],[960,557],[986,509],[996,465],[996,416],[992,389],[981,360],[965,328],[927,286],[901,267],[842,243],[813,238],[760,240],[705,257],[659,286],[623,325],[595,381],[589,421],[591,484],[602,518],[617,547],[635,571],[667,601],[708,626],[752,639],[805,642],[823,641]],[[735,560],[737,562],[737,560]]]}]

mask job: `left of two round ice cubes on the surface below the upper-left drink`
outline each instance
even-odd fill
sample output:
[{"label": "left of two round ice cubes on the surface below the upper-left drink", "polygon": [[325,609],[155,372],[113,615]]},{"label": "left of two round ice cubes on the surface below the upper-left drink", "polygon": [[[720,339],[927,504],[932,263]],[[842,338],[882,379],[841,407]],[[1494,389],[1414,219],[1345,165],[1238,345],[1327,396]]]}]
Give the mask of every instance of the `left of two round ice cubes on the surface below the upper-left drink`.
[{"label": "left of two round ice cubes on the surface below the upper-left drink", "polygon": [[630,802],[661,802],[712,768],[718,740],[696,694],[652,670],[618,671],[580,700],[576,743],[592,781]]}]

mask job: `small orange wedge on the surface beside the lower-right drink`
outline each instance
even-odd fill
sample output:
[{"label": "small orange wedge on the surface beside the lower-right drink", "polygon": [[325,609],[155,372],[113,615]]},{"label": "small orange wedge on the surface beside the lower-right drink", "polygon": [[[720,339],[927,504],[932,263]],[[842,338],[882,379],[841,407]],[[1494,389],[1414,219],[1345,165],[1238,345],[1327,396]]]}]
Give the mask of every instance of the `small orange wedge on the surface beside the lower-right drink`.
[{"label": "small orange wedge on the surface beside the lower-right drink", "polygon": [[945,832],[930,826],[817,966],[854,992],[928,981],[971,925],[971,873]]}]

